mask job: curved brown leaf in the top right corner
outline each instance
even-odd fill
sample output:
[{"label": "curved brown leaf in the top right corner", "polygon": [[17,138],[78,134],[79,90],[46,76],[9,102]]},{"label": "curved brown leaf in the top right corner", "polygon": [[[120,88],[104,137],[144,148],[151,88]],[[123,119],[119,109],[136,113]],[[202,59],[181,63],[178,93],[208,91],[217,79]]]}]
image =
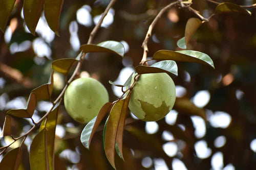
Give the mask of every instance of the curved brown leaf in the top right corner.
[{"label": "curved brown leaf in the top right corner", "polygon": [[216,14],[230,13],[230,12],[238,12],[238,13],[250,15],[250,13],[246,9],[233,3],[221,3],[215,9]]}]

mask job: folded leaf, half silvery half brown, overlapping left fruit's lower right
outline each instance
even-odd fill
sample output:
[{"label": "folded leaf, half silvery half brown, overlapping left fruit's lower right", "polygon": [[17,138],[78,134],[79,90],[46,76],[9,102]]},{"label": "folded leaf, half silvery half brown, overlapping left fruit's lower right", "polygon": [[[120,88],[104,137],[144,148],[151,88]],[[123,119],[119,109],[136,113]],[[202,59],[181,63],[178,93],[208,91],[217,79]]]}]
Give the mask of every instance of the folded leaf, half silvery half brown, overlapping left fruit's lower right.
[{"label": "folded leaf, half silvery half brown, overlapping left fruit's lower right", "polygon": [[112,103],[108,102],[105,103],[97,116],[95,116],[87,125],[84,127],[81,133],[80,140],[84,147],[89,149],[90,143],[92,141],[93,135],[95,134],[99,124],[101,123],[102,119],[106,115],[106,113],[109,111],[109,109],[112,107]]}]

